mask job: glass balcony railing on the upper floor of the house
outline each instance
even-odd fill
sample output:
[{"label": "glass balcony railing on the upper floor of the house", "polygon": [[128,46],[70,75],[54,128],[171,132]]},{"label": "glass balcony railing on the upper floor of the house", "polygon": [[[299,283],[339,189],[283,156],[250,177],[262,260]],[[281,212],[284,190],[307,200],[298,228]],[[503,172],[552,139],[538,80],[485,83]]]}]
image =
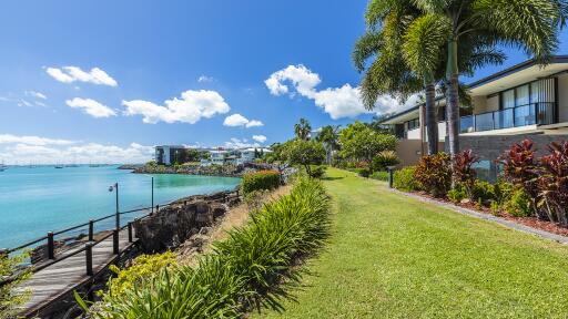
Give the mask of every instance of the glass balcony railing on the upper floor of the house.
[{"label": "glass balcony railing on the upper floor of the house", "polygon": [[539,102],[460,119],[460,132],[483,132],[555,123],[556,103]]}]

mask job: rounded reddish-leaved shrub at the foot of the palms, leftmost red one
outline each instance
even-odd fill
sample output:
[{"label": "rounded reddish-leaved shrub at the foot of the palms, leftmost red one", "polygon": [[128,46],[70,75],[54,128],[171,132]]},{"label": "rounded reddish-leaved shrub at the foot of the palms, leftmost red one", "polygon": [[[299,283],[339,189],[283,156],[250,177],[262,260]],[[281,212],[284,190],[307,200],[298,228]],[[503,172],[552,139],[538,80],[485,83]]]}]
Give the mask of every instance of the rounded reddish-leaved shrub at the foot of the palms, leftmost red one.
[{"label": "rounded reddish-leaved shrub at the foot of the palms, leftmost red one", "polygon": [[435,197],[446,195],[452,183],[452,162],[446,153],[426,155],[416,165],[415,178],[423,191]]}]

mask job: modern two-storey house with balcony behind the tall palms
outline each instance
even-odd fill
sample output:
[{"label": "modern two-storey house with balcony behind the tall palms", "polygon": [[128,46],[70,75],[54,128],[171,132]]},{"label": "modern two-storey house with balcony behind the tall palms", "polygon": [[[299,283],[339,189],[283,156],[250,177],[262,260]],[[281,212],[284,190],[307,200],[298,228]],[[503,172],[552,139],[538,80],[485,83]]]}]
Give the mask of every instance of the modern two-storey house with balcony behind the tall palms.
[{"label": "modern two-storey house with balcony behind the tall palms", "polygon": [[[460,148],[471,148],[496,171],[505,148],[524,138],[539,150],[568,138],[568,55],[554,56],[547,65],[528,60],[467,85],[471,106],[460,109]],[[440,148],[446,138],[446,101],[436,100]],[[416,163],[427,150],[425,104],[381,122],[395,127],[403,164]]]}]

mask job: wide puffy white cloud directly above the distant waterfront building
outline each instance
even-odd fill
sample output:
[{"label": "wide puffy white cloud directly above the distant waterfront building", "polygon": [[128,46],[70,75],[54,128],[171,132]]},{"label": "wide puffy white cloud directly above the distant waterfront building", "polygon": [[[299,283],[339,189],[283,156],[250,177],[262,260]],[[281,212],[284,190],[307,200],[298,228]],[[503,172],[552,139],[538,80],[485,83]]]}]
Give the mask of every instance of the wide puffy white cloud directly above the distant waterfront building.
[{"label": "wide puffy white cloud directly above the distant waterfront building", "polygon": [[142,121],[151,124],[160,121],[194,124],[202,117],[210,119],[231,110],[221,94],[206,90],[185,91],[181,94],[181,99],[166,100],[164,105],[143,100],[122,101],[122,105],[126,107],[124,114],[142,115]]}]

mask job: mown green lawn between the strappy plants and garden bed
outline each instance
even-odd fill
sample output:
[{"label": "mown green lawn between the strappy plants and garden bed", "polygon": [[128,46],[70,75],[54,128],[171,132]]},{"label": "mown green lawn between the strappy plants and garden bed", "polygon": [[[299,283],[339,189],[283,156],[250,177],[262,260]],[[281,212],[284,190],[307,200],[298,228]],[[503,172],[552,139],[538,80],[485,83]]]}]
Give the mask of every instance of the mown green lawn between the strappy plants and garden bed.
[{"label": "mown green lawn between the strappy plants and garden bed", "polygon": [[282,313],[255,318],[568,318],[568,247],[328,169],[326,250]]}]

